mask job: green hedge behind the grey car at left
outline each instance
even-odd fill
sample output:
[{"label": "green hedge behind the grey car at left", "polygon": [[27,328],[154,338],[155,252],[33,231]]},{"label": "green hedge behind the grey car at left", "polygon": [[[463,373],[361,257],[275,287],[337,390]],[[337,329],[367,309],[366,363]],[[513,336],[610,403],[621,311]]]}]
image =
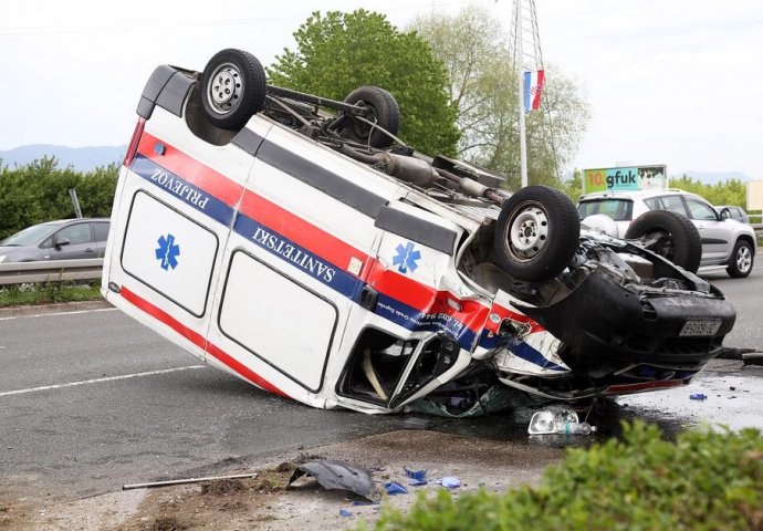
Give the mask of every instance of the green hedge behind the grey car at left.
[{"label": "green hedge behind the grey car at left", "polygon": [[70,188],[76,189],[83,216],[111,216],[116,164],[86,173],[58,166],[55,158],[15,168],[0,163],[0,240],[32,225],[73,218]]}]

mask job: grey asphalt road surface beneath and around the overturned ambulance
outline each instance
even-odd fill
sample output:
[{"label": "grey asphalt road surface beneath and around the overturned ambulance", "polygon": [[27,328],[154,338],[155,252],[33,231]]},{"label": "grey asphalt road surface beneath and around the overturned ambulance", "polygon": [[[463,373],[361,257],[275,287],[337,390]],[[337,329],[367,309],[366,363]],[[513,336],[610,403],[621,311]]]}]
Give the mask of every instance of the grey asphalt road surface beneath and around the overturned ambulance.
[{"label": "grey asphalt road surface beneath and around the overturned ambulance", "polygon": [[[763,350],[757,258],[748,279],[703,272],[739,312],[729,346]],[[403,423],[261,392],[115,310],[0,320],[0,492],[32,498],[199,476]]]}]

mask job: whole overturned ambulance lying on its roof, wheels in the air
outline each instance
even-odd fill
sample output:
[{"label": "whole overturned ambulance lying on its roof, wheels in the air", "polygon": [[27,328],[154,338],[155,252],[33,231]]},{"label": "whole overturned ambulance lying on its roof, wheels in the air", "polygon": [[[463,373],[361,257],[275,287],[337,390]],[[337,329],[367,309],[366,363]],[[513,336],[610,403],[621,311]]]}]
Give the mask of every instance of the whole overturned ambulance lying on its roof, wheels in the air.
[{"label": "whole overturned ambulance lying on its roof, wheels in the air", "polygon": [[366,413],[494,385],[572,402],[687,384],[733,326],[715,288],[582,230],[557,190],[407,146],[384,90],[271,86],[223,50],[157,67],[137,113],[104,296],[263,389]]}]

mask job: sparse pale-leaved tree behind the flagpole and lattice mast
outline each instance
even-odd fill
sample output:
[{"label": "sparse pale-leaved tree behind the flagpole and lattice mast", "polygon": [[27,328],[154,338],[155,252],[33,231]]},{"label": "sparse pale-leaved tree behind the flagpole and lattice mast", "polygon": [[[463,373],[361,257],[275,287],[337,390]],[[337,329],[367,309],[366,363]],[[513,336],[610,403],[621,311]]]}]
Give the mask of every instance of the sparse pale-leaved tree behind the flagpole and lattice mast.
[{"label": "sparse pale-leaved tree behind the flagpole and lattice mast", "polygon": [[[484,8],[470,6],[453,17],[419,17],[411,29],[448,69],[448,92],[459,108],[459,153],[506,175],[510,188],[519,187],[518,81],[501,24]],[[572,80],[553,65],[545,71],[542,107],[526,115],[527,174],[531,184],[560,186],[588,107]]]}]

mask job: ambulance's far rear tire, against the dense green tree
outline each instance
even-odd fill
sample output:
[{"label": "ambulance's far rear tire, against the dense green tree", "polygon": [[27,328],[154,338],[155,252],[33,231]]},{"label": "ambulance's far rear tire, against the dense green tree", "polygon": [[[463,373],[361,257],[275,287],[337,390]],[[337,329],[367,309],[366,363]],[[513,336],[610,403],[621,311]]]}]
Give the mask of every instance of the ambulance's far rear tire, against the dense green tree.
[{"label": "ambulance's far rear tire, against the dense green tree", "polygon": [[[370,116],[366,119],[375,121],[379,127],[393,135],[397,135],[400,128],[400,107],[397,105],[395,97],[384,88],[370,85],[355,88],[344,98],[344,103],[368,107]],[[395,142],[393,137],[386,135],[383,131],[376,129],[372,132],[374,127],[360,119],[353,116],[349,116],[349,119],[351,126],[347,131],[357,142],[367,143],[373,147],[379,148],[389,147]],[[368,138],[369,135],[370,138]]]}]

